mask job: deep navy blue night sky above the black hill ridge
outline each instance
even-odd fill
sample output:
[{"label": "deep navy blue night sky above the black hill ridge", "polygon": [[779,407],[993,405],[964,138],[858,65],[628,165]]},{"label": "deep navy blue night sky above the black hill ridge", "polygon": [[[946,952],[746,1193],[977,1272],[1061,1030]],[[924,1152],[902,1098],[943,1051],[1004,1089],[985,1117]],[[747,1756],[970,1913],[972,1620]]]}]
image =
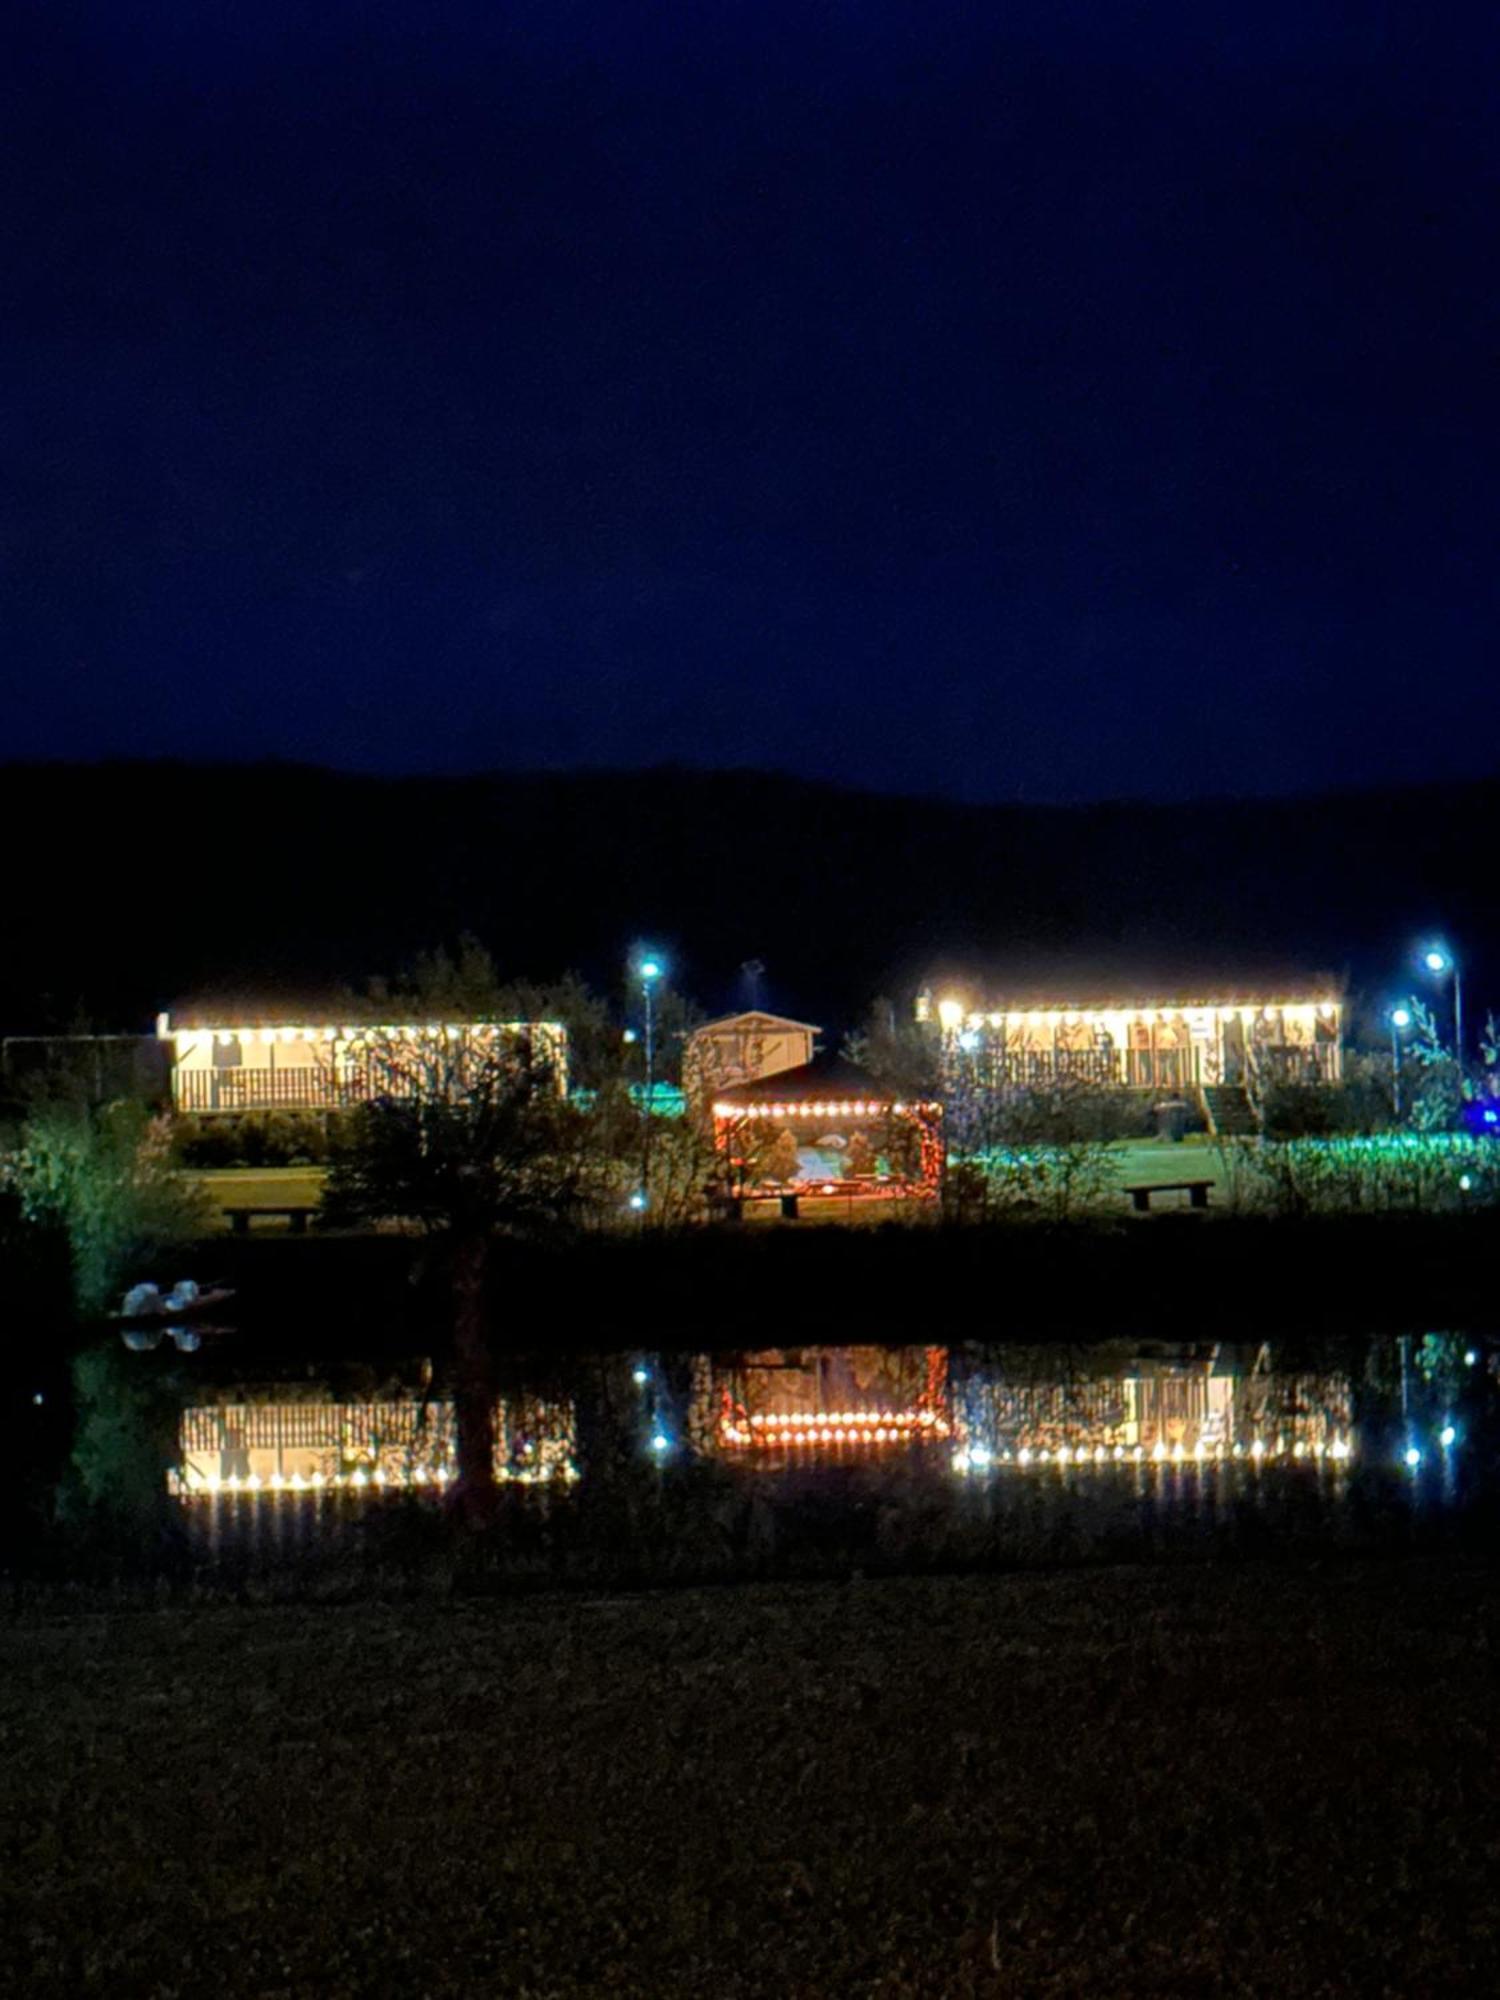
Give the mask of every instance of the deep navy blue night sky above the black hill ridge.
[{"label": "deep navy blue night sky above the black hill ridge", "polygon": [[24,0],[0,754],[1494,770],[1494,6]]}]

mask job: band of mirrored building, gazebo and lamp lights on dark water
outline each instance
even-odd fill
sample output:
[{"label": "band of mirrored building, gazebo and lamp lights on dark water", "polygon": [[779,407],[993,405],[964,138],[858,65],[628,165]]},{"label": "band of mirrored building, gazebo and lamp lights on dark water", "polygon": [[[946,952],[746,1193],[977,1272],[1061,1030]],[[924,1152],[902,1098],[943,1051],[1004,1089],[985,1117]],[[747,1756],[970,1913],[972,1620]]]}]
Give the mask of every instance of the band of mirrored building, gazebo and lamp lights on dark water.
[{"label": "band of mirrored building, gazebo and lamp lights on dark water", "polygon": [[[600,1382],[616,1392],[600,1396]],[[1434,1466],[1452,1474],[1492,1388],[1494,1350],[1456,1334],[1336,1350],[1012,1342],[578,1356],[562,1386],[496,1404],[494,1476],[568,1490],[624,1452],[662,1472],[720,1464],[802,1482],[900,1470],[966,1486],[1124,1472],[1180,1484],[1236,1470],[1338,1476],[1360,1462],[1418,1480]],[[228,1386],[182,1410],[170,1488],[184,1500],[438,1496],[454,1474],[454,1404],[428,1390],[394,1384],[352,1400]]]}]

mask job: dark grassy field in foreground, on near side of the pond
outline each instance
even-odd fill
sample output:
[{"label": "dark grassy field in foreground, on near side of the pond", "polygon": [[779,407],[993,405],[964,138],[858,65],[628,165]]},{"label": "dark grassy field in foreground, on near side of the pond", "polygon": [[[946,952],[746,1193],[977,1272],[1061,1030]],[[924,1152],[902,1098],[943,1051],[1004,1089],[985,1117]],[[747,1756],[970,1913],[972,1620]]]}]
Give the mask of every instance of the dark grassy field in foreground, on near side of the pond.
[{"label": "dark grassy field in foreground, on near side of the pond", "polygon": [[0,1990],[1478,1994],[1494,1574],[20,1616]]}]

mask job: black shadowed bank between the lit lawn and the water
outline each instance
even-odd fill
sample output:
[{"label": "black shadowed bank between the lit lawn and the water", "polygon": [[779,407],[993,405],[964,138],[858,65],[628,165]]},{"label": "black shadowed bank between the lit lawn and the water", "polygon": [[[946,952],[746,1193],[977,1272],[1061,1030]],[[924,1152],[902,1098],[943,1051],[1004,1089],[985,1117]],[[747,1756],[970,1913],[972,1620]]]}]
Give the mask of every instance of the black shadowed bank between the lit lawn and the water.
[{"label": "black shadowed bank between the lit lawn and the water", "polygon": [[[494,1258],[496,1338],[522,1350],[784,1340],[1266,1338],[1496,1320],[1500,1216],[1150,1216],[1048,1228],[800,1224],[596,1238]],[[258,1344],[378,1350],[446,1338],[446,1302],[400,1238],[216,1240],[202,1274]],[[428,1266],[428,1276],[436,1270]]]}]

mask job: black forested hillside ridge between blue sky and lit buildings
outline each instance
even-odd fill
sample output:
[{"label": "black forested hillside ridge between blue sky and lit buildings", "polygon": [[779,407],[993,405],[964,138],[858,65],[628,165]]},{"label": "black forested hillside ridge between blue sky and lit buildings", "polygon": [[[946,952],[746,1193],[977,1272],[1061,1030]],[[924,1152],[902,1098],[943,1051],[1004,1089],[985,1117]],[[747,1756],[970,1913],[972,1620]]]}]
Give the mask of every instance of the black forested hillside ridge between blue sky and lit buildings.
[{"label": "black forested hillside ridge between blue sky and lit buildings", "polygon": [[[1414,936],[1500,986],[1500,782],[1306,802],[952,806],[754,772],[364,778],[10,766],[0,1020],[150,1024],[194,990],[316,990],[476,932],[506,972],[618,980],[632,936],[704,1004],[760,958],[830,1028],[936,966],[1038,978],[1348,974]],[[1222,976],[1222,972],[1220,972]]]}]

